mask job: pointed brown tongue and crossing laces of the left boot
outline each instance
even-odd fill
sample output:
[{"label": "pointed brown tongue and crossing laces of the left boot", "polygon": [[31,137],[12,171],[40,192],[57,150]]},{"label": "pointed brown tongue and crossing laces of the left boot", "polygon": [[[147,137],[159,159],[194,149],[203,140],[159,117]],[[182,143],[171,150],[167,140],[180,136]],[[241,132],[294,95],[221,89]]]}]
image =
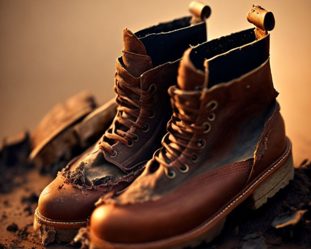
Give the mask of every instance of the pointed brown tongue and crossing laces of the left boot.
[{"label": "pointed brown tongue and crossing laces of the left boot", "polygon": [[140,89],[139,77],[152,68],[151,58],[146,55],[145,46],[128,29],[123,31],[123,41],[124,49],[121,60],[117,61],[116,64],[114,87],[114,91],[118,94],[118,113],[112,126],[113,129],[105,133],[101,145],[109,153],[111,153],[111,145],[115,141],[126,144],[126,141],[133,136],[132,134],[126,134],[130,129],[129,126],[140,127],[135,122],[140,108],[144,107],[141,95],[147,94],[147,99],[151,96]]}]

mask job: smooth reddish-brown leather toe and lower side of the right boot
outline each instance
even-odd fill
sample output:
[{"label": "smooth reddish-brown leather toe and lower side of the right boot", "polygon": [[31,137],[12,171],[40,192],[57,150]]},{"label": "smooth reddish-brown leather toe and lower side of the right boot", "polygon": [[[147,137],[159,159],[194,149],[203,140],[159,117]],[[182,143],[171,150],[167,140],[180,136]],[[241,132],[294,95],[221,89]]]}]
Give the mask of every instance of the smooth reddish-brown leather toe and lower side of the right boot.
[{"label": "smooth reddish-brown leather toe and lower side of the right boot", "polygon": [[187,232],[239,192],[252,163],[249,160],[203,174],[154,201],[101,205],[91,216],[91,232],[118,243],[151,242]]}]

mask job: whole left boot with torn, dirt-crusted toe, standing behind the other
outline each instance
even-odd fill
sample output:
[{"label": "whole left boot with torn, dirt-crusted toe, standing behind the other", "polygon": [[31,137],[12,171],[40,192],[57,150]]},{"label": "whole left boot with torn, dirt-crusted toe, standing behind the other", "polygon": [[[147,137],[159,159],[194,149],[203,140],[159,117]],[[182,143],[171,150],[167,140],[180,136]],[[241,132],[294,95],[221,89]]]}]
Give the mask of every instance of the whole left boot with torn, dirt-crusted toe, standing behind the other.
[{"label": "whole left boot with torn, dirt-crusted toe, standing behind the other", "polygon": [[123,190],[159,148],[171,117],[169,86],[189,45],[207,39],[210,8],[192,3],[193,16],[133,34],[123,31],[114,91],[117,114],[102,138],[74,158],[41,193],[34,227],[44,244],[70,242],[103,194]]}]

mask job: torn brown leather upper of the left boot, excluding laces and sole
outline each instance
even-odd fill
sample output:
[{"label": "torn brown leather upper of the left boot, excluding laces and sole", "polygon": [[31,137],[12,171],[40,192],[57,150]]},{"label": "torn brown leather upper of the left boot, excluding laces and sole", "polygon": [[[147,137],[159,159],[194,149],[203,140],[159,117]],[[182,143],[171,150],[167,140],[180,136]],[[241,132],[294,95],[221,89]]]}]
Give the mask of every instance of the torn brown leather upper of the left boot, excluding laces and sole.
[{"label": "torn brown leather upper of the left boot, excluding laces and sole", "polygon": [[[171,116],[167,89],[176,84],[178,59],[190,44],[196,45],[206,41],[205,22],[190,26],[189,21],[190,18],[182,18],[139,31],[140,35],[136,33],[137,37],[141,38],[139,42],[135,35],[125,30],[125,42],[136,42],[134,45],[125,45],[125,50],[131,51],[123,50],[123,56],[117,60],[116,68],[123,79],[131,81],[135,87],[146,90],[151,84],[156,85],[158,98],[152,106],[155,117],[139,117],[137,120],[142,125],[148,122],[150,129],[143,133],[135,127],[130,128],[129,132],[135,132],[139,140],[132,147],[119,142],[114,143],[113,147],[118,152],[116,157],[110,157],[106,152],[99,150],[99,141],[81,156],[73,159],[40,195],[41,215],[66,221],[86,219],[101,195],[124,189],[142,172],[142,167],[160,146],[161,137],[166,132],[166,123]],[[177,28],[183,29],[176,30]],[[146,53],[141,53],[144,46],[147,48]],[[140,55],[135,52],[140,52]],[[123,60],[123,57],[127,58]],[[133,63],[135,67],[140,68],[132,67]],[[156,67],[150,69],[152,64]],[[142,73],[145,70],[147,71]]]}]

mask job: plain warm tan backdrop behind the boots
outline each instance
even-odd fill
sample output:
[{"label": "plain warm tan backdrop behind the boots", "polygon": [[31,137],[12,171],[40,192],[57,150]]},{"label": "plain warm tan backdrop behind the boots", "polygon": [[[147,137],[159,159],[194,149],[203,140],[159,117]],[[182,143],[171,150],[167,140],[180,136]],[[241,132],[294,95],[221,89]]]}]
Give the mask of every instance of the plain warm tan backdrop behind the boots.
[{"label": "plain warm tan backdrop behind the boots", "polygon": [[[296,165],[311,158],[311,1],[205,1],[209,39],[252,27],[260,4],[275,15],[271,64]],[[190,0],[0,0],[0,138],[33,129],[57,102],[89,89],[114,96],[122,31],[135,32],[188,14]]]}]

